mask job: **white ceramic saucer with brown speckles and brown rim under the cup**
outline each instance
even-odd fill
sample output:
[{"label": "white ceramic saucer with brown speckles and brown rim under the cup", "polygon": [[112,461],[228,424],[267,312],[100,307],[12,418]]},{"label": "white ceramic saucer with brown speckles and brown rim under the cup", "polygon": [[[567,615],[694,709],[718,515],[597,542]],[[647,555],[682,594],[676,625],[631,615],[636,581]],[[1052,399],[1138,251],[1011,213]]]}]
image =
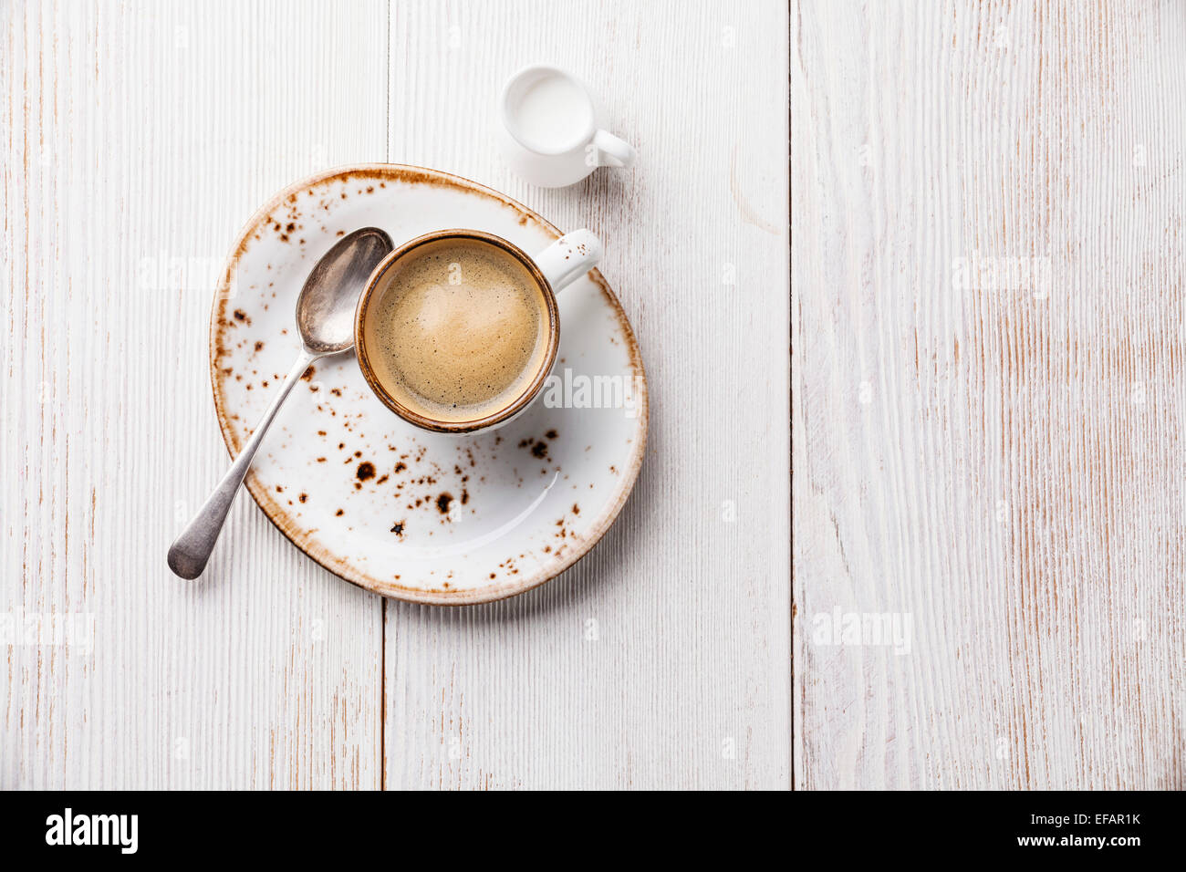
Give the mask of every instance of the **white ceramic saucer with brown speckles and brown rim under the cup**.
[{"label": "white ceramic saucer with brown speckles and brown rim under the cup", "polygon": [[[281,191],[240,236],[210,322],[215,405],[232,454],[296,357],[293,312],[306,275],[361,227],[387,230],[396,246],[473,228],[533,254],[560,236],[509,197],[435,170],[351,166]],[[255,502],[321,566],[388,597],[485,603],[563,572],[633,488],[648,397],[630,322],[601,274],[559,301],[553,382],[492,433],[417,429],[375,397],[352,354],[319,361],[256,454],[247,476]]]}]

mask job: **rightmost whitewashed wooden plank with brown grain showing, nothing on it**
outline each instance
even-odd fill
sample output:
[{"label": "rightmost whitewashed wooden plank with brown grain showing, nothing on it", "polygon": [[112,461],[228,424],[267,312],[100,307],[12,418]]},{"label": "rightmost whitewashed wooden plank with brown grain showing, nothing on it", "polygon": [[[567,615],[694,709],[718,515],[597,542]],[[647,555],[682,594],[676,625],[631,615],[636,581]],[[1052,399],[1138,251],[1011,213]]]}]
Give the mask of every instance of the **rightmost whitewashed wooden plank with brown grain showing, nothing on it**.
[{"label": "rightmost whitewashed wooden plank with brown grain showing, nothing on it", "polygon": [[797,787],[1182,787],[1184,53],[792,4]]}]

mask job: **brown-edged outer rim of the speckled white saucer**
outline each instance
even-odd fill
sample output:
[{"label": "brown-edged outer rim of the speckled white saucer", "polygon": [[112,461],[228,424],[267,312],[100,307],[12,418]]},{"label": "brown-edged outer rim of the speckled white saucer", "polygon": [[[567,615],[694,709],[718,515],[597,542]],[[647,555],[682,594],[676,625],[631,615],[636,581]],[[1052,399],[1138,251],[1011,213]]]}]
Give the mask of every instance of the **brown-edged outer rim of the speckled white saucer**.
[{"label": "brown-edged outer rim of the speckled white saucer", "polygon": [[[210,314],[210,383],[211,390],[215,397],[215,412],[218,418],[218,428],[223,437],[223,443],[227,445],[227,451],[231,457],[235,457],[240,451],[240,445],[234,439],[234,433],[230,426],[230,420],[227,414],[223,393],[222,393],[222,381],[218,374],[218,356],[219,356],[219,322],[223,319],[223,313],[227,308],[227,303],[229,299],[228,291],[230,288],[231,276],[235,274],[235,269],[238,266],[240,259],[247,250],[249,240],[253,234],[260,227],[264,218],[272,215],[279,206],[281,206],[285,201],[289,197],[294,197],[298,192],[313,187],[315,185],[326,184],[334,180],[346,180],[352,176],[366,176],[369,178],[381,178],[381,179],[394,179],[396,182],[414,182],[414,183],[426,183],[433,185],[444,185],[454,189],[461,189],[472,191],[480,195],[486,195],[492,197],[505,205],[515,209],[521,217],[535,222],[536,225],[547,230],[553,238],[560,238],[563,234],[553,225],[550,222],[541,217],[538,214],[528,209],[525,205],[518,201],[511,199],[504,193],[500,193],[491,187],[486,187],[483,184],[473,182],[472,179],[464,178],[461,176],[454,176],[440,170],[429,170],[427,167],[410,166],[407,164],[357,164],[349,166],[338,166],[330,170],[324,170],[319,173],[314,173],[300,182],[288,185],[282,191],[276,193],[272,199],[264,203],[255,215],[247,222],[241,231],[238,238],[235,242],[234,248],[231,248],[230,256],[227,260],[227,268],[223,270],[222,278],[218,282],[218,288],[215,291],[213,307]],[[646,453],[646,437],[650,428],[650,396],[649,388],[646,383],[646,370],[643,367],[642,352],[638,349],[638,340],[635,338],[635,331],[630,326],[630,319],[626,318],[625,311],[621,308],[621,304],[618,301],[617,295],[610,288],[605,278],[601,275],[600,270],[589,270],[589,278],[597,284],[601,289],[601,294],[606,298],[610,305],[613,307],[618,323],[623,330],[623,335],[629,344],[630,354],[630,365],[635,370],[635,376],[637,384],[639,387],[642,415],[640,415],[640,432],[637,439],[637,444],[633,446],[635,451],[630,459],[629,467],[624,471],[621,476],[620,484],[617,490],[617,498],[608,507],[606,511],[593,523],[588,534],[586,534],[580,547],[574,548],[572,552],[567,553],[565,558],[557,560],[550,566],[542,567],[534,575],[524,579],[516,579],[515,581],[505,581],[496,585],[487,585],[484,587],[472,587],[467,590],[444,590],[444,588],[422,588],[422,587],[406,587],[403,585],[393,584],[390,581],[383,581],[380,579],[371,578],[363,572],[359,572],[356,567],[351,566],[347,561],[342,560],[333,554],[330,554],[325,548],[311,542],[304,533],[295,529],[291,524],[287,515],[282,508],[276,503],[272,496],[268,494],[267,489],[256,478],[254,471],[248,471],[247,473],[247,490],[255,499],[256,504],[263,511],[264,516],[273,523],[273,526],[280,530],[283,536],[292,542],[296,548],[302,550],[313,561],[319,564],[325,569],[329,569],[333,574],[338,575],[345,581],[349,581],[363,590],[370,591],[372,593],[378,593],[384,597],[390,597],[394,599],[401,599],[408,603],[421,603],[427,605],[476,605],[480,603],[493,603],[499,599],[506,599],[508,597],[514,597],[533,587],[538,587],[540,585],[550,581],[556,575],[561,574],[566,569],[570,568],[581,558],[588,554],[593,546],[595,546],[601,537],[605,535],[606,530],[613,524],[621,513],[623,505],[625,505],[626,499],[633,492],[635,483],[638,479],[638,472],[643,465],[643,457]]]}]

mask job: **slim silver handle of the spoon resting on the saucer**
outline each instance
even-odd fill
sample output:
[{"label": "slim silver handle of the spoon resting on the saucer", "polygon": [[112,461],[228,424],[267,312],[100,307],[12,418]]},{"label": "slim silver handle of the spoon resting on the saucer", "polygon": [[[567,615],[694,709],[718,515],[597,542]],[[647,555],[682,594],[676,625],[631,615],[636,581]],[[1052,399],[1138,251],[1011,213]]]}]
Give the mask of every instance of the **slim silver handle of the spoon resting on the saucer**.
[{"label": "slim silver handle of the spoon resting on the saucer", "polygon": [[210,554],[215,549],[215,542],[218,541],[218,534],[222,533],[223,523],[227,521],[227,513],[230,511],[231,503],[235,502],[235,496],[238,494],[238,485],[243,483],[243,477],[247,476],[247,469],[251,465],[251,458],[255,457],[260,443],[263,441],[263,435],[268,432],[268,427],[272,425],[273,419],[276,416],[276,413],[293,387],[300,381],[305,370],[308,369],[308,364],[318,357],[321,357],[321,355],[301,349],[300,357],[296,358],[296,363],[288,371],[285,383],[272,401],[272,405],[268,406],[268,410],[263,413],[263,418],[260,419],[260,424],[255,427],[255,432],[251,433],[251,438],[247,440],[247,445],[238,452],[235,463],[227,470],[227,475],[223,476],[218,486],[215,488],[213,494],[206,499],[205,505],[198,510],[198,514],[193,516],[189,526],[181,530],[181,535],[173,541],[173,545],[168,549],[168,568],[176,574],[181,578],[193,579],[200,575],[202,571],[206,568],[206,561],[210,560]]}]

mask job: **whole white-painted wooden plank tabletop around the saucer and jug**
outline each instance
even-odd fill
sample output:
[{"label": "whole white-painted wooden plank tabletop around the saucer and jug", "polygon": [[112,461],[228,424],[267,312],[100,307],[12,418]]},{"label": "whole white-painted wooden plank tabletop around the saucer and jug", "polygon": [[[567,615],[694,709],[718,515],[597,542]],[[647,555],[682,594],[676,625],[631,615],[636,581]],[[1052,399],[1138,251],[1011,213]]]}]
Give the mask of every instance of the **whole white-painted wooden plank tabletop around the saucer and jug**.
[{"label": "whole white-painted wooden plank tabletop around the saucer and jug", "polygon": [[[1182,787],[1182,58],[1120,0],[0,5],[0,787]],[[506,172],[535,59],[637,170]],[[183,584],[227,246],[378,160],[602,234],[635,496],[490,606],[246,498]]]}]

